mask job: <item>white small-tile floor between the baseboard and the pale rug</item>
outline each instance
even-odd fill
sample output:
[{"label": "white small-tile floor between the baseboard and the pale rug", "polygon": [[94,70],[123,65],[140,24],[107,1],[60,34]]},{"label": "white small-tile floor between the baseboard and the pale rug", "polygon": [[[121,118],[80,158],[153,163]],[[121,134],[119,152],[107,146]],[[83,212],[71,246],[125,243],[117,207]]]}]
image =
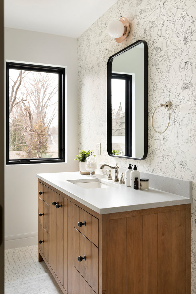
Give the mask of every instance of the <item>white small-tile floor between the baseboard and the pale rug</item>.
[{"label": "white small-tile floor between the baseboard and the pale rug", "polygon": [[5,250],[5,283],[48,273],[45,262],[38,262],[38,246]]}]

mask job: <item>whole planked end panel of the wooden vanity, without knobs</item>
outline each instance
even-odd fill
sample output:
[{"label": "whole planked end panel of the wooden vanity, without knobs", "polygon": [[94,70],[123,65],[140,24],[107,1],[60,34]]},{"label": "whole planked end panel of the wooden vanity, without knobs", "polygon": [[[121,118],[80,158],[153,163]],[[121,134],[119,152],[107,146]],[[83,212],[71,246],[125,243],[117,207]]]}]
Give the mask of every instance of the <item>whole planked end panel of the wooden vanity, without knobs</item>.
[{"label": "whole planked end panel of the wooden vanity, without knobs", "polygon": [[190,293],[189,213],[178,208],[109,220],[110,294]]}]

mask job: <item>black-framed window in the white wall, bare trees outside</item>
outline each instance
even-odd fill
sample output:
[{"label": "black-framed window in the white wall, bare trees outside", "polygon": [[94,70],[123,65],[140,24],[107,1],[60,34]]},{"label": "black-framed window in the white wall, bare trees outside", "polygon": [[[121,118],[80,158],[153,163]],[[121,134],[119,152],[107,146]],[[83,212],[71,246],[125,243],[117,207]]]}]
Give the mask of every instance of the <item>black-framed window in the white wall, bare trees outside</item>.
[{"label": "black-framed window in the white wall, bare trees outside", "polygon": [[6,62],[6,164],[65,162],[65,69]]}]

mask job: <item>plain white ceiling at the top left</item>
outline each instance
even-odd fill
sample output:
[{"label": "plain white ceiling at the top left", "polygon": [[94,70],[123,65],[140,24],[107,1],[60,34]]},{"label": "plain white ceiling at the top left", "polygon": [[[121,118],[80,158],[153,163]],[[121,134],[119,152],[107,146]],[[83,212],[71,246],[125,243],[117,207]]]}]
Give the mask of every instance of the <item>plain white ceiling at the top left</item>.
[{"label": "plain white ceiling at the top left", "polygon": [[6,27],[78,38],[117,0],[4,0]]}]

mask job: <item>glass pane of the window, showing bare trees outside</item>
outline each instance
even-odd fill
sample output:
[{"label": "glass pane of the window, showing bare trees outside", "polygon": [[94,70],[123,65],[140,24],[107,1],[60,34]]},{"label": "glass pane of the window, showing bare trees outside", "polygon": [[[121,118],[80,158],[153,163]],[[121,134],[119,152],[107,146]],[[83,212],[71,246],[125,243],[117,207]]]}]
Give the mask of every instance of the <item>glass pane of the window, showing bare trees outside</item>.
[{"label": "glass pane of the window, showing bare trees outside", "polygon": [[58,73],[9,69],[9,158],[58,158]]}]

